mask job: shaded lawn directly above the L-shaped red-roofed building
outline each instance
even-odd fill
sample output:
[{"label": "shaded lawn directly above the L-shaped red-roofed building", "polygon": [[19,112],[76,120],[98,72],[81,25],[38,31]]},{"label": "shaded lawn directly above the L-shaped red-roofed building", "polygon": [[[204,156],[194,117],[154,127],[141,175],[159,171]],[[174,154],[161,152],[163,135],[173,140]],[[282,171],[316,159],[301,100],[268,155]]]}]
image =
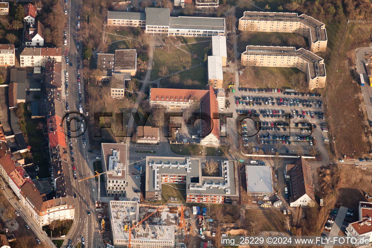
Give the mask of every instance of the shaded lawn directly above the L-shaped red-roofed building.
[{"label": "shaded lawn directly above the L-shaped red-roofed building", "polygon": [[[170,77],[164,78],[160,81],[161,88],[192,88],[196,90],[203,89],[206,84],[208,84],[208,71],[207,68],[205,68],[202,65],[191,68],[187,71],[182,71],[180,74],[180,83],[179,84],[173,84],[170,83]],[[199,82],[199,84],[192,84],[192,85],[185,85],[183,84],[184,81],[187,79],[190,79],[192,81]]]}]

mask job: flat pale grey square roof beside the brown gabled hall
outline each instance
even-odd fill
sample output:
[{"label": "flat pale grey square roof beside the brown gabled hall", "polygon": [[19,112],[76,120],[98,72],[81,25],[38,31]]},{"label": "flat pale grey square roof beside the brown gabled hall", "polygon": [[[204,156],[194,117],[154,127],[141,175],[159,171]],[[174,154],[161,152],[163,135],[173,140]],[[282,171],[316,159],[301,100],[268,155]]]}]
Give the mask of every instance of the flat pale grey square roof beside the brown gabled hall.
[{"label": "flat pale grey square roof beside the brown gabled hall", "polygon": [[247,192],[273,193],[271,170],[269,166],[247,165]]}]

